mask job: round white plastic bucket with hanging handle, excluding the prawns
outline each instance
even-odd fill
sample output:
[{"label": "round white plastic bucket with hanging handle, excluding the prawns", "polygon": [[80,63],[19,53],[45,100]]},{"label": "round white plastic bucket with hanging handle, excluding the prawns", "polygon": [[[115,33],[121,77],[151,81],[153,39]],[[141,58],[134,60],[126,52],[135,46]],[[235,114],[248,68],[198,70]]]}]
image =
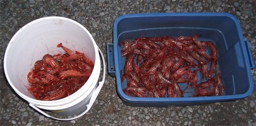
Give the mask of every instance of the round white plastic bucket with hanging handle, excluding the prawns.
[{"label": "round white plastic bucket with hanging handle, excluding the prawns", "polygon": [[[59,43],[63,43],[72,51],[84,52],[86,57],[94,62],[93,72],[81,89],[66,98],[52,101],[36,100],[27,90],[29,87],[27,74],[35,62],[42,59],[44,54],[64,53],[61,48],[56,47]],[[101,69],[98,52],[101,54],[104,68],[101,82],[98,82]],[[32,108],[57,120],[76,119],[88,112],[105,80],[104,56],[92,35],[81,24],[59,16],[34,20],[16,32],[7,46],[3,66],[6,78],[14,91],[24,100],[27,100]],[[39,108],[60,115],[78,116],[59,119],[46,114]]]}]

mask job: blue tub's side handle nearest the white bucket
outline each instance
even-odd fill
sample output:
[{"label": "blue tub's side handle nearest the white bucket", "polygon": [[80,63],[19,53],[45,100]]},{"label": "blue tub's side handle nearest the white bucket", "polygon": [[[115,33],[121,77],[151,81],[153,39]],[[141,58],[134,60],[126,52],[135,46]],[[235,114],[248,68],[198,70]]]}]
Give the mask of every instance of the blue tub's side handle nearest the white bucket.
[{"label": "blue tub's side handle nearest the white bucket", "polygon": [[115,77],[115,62],[114,62],[114,45],[107,43],[107,54],[108,54],[108,73],[111,77]]}]

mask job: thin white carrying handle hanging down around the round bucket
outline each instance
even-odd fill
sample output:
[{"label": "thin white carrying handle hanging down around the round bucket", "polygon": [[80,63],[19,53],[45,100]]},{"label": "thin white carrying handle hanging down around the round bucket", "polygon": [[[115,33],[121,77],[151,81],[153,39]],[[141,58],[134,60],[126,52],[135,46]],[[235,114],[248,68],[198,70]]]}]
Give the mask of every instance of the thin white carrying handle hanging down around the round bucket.
[{"label": "thin white carrying handle hanging down around the round bucket", "polygon": [[49,117],[49,118],[51,118],[51,119],[55,119],[55,120],[61,120],[61,121],[74,120],[74,119],[77,119],[77,118],[83,116],[84,114],[86,114],[86,113],[90,110],[90,108],[92,107],[92,105],[93,105],[94,101],[96,100],[98,94],[100,93],[101,88],[102,88],[102,86],[103,86],[103,84],[104,84],[104,81],[105,81],[105,76],[106,76],[106,75],[105,75],[105,74],[106,74],[105,59],[104,59],[104,56],[103,56],[103,54],[102,54],[100,48],[98,48],[98,52],[100,52],[101,58],[102,58],[102,62],[103,62],[103,77],[102,77],[102,81],[101,81],[101,82],[98,82],[98,87],[95,89],[95,91],[93,91],[92,97],[90,98],[90,102],[89,102],[89,104],[86,105],[87,109],[86,109],[84,112],[82,112],[80,115],[77,115],[77,116],[75,116],[75,117],[63,119],[63,118],[58,118],[58,117],[53,117],[53,116],[51,116],[51,115],[48,115],[46,112],[44,112],[44,111],[40,110],[40,108],[36,107],[35,104],[30,103],[29,105],[30,105],[32,108],[34,108],[36,111],[38,111],[38,112],[40,112],[41,114],[43,114],[44,116],[47,116],[47,117]]}]

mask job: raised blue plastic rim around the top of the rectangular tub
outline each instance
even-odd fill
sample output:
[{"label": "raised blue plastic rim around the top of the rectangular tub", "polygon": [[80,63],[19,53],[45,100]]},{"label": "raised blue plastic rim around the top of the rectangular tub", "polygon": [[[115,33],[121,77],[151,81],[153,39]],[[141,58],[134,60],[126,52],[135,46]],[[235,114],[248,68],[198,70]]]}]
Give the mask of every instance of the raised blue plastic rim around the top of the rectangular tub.
[{"label": "raised blue plastic rim around the top of the rectangular tub", "polygon": [[[243,94],[238,94],[238,95],[223,95],[223,96],[208,96],[208,97],[191,97],[191,98],[137,98],[137,97],[130,97],[127,96],[125,93],[123,93],[121,85],[117,85],[117,92],[119,96],[125,100],[126,102],[130,103],[156,103],[156,102],[168,102],[168,103],[175,103],[175,102],[210,102],[210,101],[225,101],[225,100],[237,100],[237,99],[243,99],[249,96],[251,93],[253,93],[253,77],[251,75],[250,71],[250,66],[249,66],[249,59],[246,58],[247,56],[247,51],[246,51],[246,45],[243,41],[243,35],[242,35],[242,30],[240,23],[238,19],[233,16],[232,14],[225,13],[225,12],[220,12],[220,13],[214,13],[214,12],[175,12],[175,13],[151,13],[151,14],[126,14],[126,15],[121,15],[119,16],[115,22],[114,22],[114,57],[115,59],[118,58],[118,52],[117,52],[117,46],[118,46],[118,35],[117,35],[117,25],[118,23],[125,18],[135,18],[135,17],[160,17],[160,16],[227,16],[236,23],[238,35],[240,37],[240,43],[242,45],[242,55],[243,55],[243,60],[245,61],[245,66],[246,66],[246,71],[247,75],[249,78],[249,89],[243,93]],[[115,60],[115,68],[119,68],[118,60]],[[121,83],[121,77],[120,77],[120,71],[116,69],[116,81],[117,83]]]}]

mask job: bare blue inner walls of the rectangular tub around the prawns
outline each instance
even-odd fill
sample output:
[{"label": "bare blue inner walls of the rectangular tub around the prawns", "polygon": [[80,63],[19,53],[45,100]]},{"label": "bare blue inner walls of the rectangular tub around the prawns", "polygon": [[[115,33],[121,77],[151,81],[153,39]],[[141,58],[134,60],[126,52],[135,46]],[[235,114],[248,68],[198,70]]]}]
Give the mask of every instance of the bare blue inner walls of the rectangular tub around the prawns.
[{"label": "bare blue inner walls of the rectangular tub around the prawns", "polygon": [[[222,81],[225,86],[224,95],[237,95],[249,90],[249,76],[247,75],[245,58],[239,27],[235,20],[229,16],[133,16],[123,18],[117,24],[117,54],[119,64],[119,77],[122,77],[125,66],[125,57],[121,56],[123,40],[133,41],[137,37],[163,37],[163,36],[193,36],[201,35],[200,41],[212,41],[217,47],[218,61]],[[116,68],[117,69],[117,68]],[[122,89],[127,82],[117,82]],[[179,84],[181,89],[185,83]],[[119,90],[120,91],[120,90]],[[193,91],[191,91],[193,92]],[[185,97],[191,92],[184,93]],[[124,93],[123,93],[124,94]]]}]

